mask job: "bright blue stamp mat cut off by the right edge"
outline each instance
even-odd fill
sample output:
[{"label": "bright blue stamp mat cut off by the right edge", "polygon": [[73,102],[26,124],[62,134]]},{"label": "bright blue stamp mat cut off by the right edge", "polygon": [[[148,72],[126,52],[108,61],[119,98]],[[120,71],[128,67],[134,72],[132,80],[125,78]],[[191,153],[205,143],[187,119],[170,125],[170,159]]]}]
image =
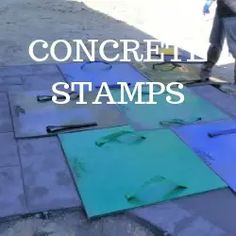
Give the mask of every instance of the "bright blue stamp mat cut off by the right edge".
[{"label": "bright blue stamp mat cut off by the right edge", "polygon": [[224,120],[174,132],[236,193],[236,122]]}]

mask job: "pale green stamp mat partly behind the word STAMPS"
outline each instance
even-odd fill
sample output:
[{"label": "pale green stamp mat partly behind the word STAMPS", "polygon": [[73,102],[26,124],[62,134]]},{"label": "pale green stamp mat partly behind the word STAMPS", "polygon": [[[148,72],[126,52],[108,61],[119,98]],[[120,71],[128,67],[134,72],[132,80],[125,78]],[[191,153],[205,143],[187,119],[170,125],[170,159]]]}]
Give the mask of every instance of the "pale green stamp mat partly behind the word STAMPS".
[{"label": "pale green stamp mat partly behind the word STAMPS", "polygon": [[[143,89],[143,101],[148,101],[148,90]],[[135,129],[155,129],[181,126],[196,122],[210,122],[228,119],[229,116],[215,107],[207,100],[194,94],[187,88],[181,90],[185,96],[182,104],[173,105],[166,101],[168,93],[155,96],[155,105],[137,105],[132,102],[118,107],[129,120],[129,124]],[[112,95],[116,100],[120,100],[120,91],[112,90]],[[177,99],[173,97],[173,99]],[[128,101],[128,97],[126,98]],[[136,99],[137,100],[137,99]]]}]

